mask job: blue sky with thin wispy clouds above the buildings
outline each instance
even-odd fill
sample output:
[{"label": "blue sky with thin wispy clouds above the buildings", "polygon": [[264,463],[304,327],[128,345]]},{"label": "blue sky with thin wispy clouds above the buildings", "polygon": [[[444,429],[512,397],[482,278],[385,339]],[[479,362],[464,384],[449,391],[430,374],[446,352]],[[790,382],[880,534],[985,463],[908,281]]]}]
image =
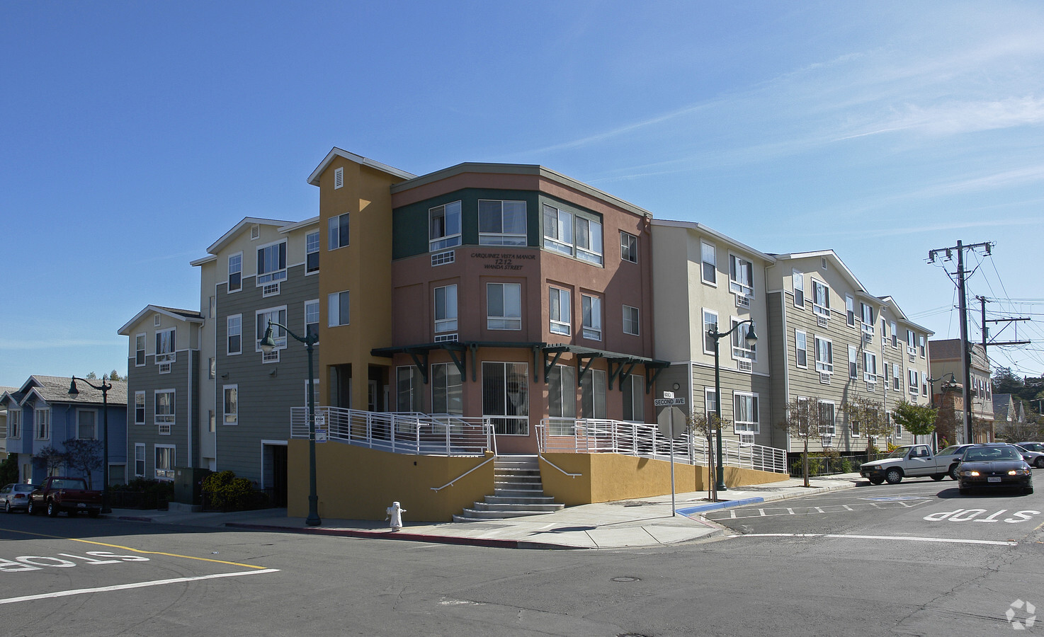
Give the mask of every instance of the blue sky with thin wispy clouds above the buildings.
[{"label": "blue sky with thin wispy clouds above the buildings", "polygon": [[0,386],[125,372],[117,329],[198,309],[188,262],[243,217],[316,215],[334,146],[833,248],[934,338],[927,251],[996,242],[969,293],[1036,319],[991,354],[1039,376],[1042,32],[1037,2],[0,3]]}]

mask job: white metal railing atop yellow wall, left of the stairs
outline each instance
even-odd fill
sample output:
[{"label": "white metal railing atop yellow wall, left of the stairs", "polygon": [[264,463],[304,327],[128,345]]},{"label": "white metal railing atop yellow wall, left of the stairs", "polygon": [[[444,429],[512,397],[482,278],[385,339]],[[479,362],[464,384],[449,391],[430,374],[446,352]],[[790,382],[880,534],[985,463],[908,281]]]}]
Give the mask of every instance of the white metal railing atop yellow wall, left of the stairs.
[{"label": "white metal railing atop yellow wall, left of the stairs", "polygon": [[[493,424],[450,414],[315,408],[315,428],[329,440],[395,454],[481,456],[497,452]],[[308,408],[290,408],[290,437],[308,439]]]}]

